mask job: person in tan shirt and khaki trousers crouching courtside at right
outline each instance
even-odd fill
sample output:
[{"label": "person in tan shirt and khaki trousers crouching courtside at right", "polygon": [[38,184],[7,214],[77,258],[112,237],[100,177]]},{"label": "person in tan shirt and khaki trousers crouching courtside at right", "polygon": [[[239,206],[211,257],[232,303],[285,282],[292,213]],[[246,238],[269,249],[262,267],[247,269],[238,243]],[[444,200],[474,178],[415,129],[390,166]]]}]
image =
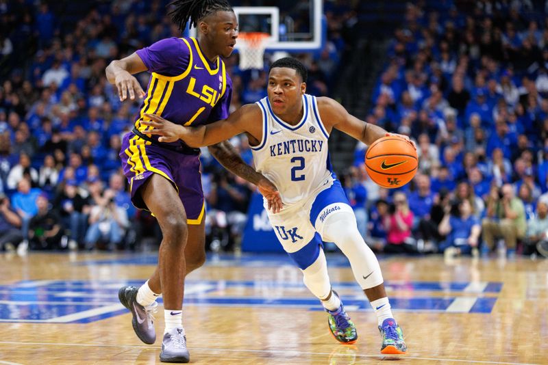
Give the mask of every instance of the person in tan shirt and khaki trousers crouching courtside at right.
[{"label": "person in tan shirt and khaki trousers crouching courtside at right", "polygon": [[488,254],[495,248],[495,239],[506,243],[508,256],[516,253],[518,239],[523,239],[527,223],[523,202],[514,195],[514,188],[505,184],[500,189],[494,187],[487,200],[487,214],[482,221],[484,247],[482,253]]}]

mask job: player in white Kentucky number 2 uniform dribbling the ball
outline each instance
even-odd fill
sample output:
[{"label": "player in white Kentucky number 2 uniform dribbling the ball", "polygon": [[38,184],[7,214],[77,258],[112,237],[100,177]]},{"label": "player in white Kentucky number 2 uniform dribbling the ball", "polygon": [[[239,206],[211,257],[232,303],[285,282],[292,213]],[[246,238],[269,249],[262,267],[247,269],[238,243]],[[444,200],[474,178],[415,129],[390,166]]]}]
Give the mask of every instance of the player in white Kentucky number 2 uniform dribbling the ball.
[{"label": "player in white Kentucky number 2 uniform dribbling the ball", "polygon": [[322,241],[336,243],[349,259],[356,281],[377,314],[381,352],[406,353],[379,262],[358,232],[356,217],[332,172],[327,151],[332,129],[367,145],[387,133],[351,116],[331,98],[306,94],[306,78],[306,68],[297,59],[279,59],[269,72],[268,97],[244,105],[226,120],[186,128],[149,115],[152,121],[142,123],[152,127],[147,133],[161,135],[160,141],[182,139],[192,147],[246,133],[256,170],[269,178],[282,196],[284,205],[279,212],[275,202],[265,200],[275,234],[303,272],[304,284],[323,304],[334,337],[345,344],[358,339],[356,327],[329,282]]}]

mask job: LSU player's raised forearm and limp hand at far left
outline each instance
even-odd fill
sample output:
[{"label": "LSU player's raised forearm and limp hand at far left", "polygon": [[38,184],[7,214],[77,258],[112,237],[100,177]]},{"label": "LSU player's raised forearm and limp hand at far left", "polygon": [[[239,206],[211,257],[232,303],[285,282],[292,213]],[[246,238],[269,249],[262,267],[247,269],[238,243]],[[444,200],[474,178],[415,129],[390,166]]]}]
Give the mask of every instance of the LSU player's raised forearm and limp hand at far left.
[{"label": "LSU player's raised forearm and limp hand at far left", "polygon": [[123,59],[114,59],[107,66],[105,73],[108,82],[116,85],[120,101],[123,101],[128,94],[132,100],[135,99],[135,96],[145,97],[145,92],[142,90],[139,81],[132,75],[146,70],[147,66],[142,62],[142,59],[137,53],[133,53]]}]

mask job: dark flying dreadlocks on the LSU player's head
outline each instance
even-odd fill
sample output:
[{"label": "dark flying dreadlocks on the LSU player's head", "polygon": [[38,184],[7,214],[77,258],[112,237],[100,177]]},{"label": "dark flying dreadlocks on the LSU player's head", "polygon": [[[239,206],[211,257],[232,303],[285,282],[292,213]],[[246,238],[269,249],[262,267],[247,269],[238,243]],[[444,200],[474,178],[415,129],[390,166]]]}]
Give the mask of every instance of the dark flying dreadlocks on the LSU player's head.
[{"label": "dark flying dreadlocks on the LSU player's head", "polygon": [[214,12],[233,12],[232,6],[226,0],[175,0],[173,10],[169,12],[171,21],[183,30],[190,20],[191,27],[197,27],[199,21]]}]

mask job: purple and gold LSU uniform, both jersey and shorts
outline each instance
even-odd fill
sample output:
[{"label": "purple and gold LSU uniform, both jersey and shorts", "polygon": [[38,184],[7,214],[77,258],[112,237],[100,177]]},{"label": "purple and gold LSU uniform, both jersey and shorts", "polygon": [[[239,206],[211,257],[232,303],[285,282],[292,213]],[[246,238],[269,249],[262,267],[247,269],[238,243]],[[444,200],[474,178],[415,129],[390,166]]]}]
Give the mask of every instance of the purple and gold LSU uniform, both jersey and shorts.
[{"label": "purple and gold LSU uniform, both jersey and shorts", "polygon": [[182,141],[160,143],[158,136],[147,134],[149,127],[141,121],[146,118],[145,113],[184,126],[225,119],[229,115],[232,81],[221,57],[210,62],[195,38],[167,38],[136,53],[151,72],[151,77],[135,129],[155,143],[132,132],[123,137],[120,157],[131,186],[132,202],[137,208],[146,209],[138,189],[152,174],[160,174],[177,189],[188,224],[201,224],[205,206],[199,154],[175,152],[175,148],[184,145]]}]

